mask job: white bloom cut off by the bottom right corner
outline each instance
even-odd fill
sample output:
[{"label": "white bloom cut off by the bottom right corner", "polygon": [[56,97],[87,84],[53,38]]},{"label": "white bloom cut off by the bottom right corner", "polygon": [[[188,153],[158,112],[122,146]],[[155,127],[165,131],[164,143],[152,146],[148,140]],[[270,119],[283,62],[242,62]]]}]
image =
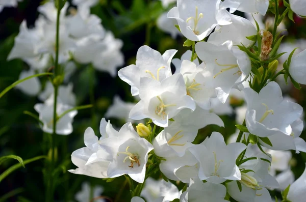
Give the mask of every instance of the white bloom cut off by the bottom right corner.
[{"label": "white bloom cut off by the bottom right corner", "polygon": [[291,202],[303,201],[306,198],[306,169],[303,174],[291,184],[287,199]]}]

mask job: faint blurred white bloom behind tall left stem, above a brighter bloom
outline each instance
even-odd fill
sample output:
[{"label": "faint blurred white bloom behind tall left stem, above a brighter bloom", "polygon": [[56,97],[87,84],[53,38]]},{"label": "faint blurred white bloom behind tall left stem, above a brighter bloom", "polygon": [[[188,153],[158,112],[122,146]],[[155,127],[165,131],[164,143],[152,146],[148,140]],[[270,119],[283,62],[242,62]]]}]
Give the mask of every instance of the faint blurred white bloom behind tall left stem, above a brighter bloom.
[{"label": "faint blurred white bloom behind tall left stem, above a brighter bloom", "polygon": [[[58,98],[62,101],[63,104],[68,104],[71,106],[75,106],[75,95],[72,92],[73,84],[69,83],[67,86],[60,85],[58,90]],[[41,92],[38,98],[41,101],[47,100],[54,93],[54,87],[51,82],[47,82],[45,85],[45,89]]]}]

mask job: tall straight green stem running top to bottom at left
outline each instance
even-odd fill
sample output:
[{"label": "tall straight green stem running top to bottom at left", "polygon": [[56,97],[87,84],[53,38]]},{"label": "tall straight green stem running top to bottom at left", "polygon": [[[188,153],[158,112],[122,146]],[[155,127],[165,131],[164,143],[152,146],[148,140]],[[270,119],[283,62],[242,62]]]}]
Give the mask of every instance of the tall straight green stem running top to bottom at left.
[{"label": "tall straight green stem running top to bottom at left", "polygon": [[[56,42],[55,42],[55,64],[54,64],[54,78],[56,78],[60,73],[60,66],[59,66],[59,38],[60,38],[60,0],[57,0],[58,10],[57,10],[57,21],[56,21]],[[54,108],[53,108],[53,134],[51,138],[51,150],[52,150],[52,158],[50,164],[50,171],[49,171],[49,183],[47,187],[47,194],[46,194],[46,201],[54,201],[54,178],[53,178],[53,171],[55,167],[55,145],[56,145],[56,122],[57,122],[57,97],[58,97],[58,84],[54,84]]]}]

